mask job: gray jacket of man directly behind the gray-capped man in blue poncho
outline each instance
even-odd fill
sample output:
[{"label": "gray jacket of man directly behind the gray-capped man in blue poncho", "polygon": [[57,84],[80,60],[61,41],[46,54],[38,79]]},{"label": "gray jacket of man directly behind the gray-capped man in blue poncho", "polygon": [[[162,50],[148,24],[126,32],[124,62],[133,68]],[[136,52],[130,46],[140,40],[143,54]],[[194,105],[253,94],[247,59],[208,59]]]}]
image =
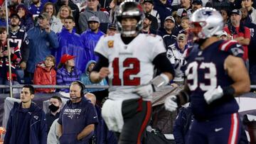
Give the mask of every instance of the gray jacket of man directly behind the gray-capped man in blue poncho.
[{"label": "gray jacket of man directly behind the gray-capped man in blue poncho", "polygon": [[100,19],[100,30],[105,32],[104,29],[102,29],[102,26],[105,25],[105,23],[110,23],[110,19],[109,16],[107,15],[107,13],[104,13],[103,11],[91,11],[90,9],[85,9],[85,11],[83,11],[82,13],[80,13],[79,16],[79,27],[80,27],[80,31],[81,33],[86,31],[88,28],[88,19],[91,16],[97,16]]}]

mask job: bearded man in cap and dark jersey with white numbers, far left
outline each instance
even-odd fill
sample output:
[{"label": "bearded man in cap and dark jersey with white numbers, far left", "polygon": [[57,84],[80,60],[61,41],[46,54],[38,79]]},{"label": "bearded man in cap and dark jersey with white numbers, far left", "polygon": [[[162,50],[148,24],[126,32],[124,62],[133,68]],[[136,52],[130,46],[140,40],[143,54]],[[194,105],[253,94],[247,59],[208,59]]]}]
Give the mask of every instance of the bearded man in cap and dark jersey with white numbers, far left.
[{"label": "bearded man in cap and dark jersey with white numbers, far left", "polygon": [[19,67],[16,69],[18,83],[23,84],[24,70],[26,69],[26,62],[28,60],[29,49],[27,33],[21,29],[18,25],[20,24],[20,17],[17,13],[13,13],[10,16],[10,28],[9,28],[9,42],[10,47],[16,47],[21,50],[21,62]]}]

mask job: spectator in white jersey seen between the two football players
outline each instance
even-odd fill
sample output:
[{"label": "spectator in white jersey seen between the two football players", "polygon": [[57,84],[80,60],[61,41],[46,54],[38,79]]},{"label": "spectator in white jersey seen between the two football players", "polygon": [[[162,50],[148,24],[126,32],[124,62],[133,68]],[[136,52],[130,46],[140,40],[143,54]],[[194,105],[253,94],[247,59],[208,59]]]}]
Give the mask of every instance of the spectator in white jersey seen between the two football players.
[{"label": "spectator in white jersey seen between the two football players", "polygon": [[184,84],[186,60],[183,53],[187,48],[187,37],[185,34],[180,33],[178,34],[176,43],[169,45],[166,52],[166,56],[175,70],[174,83],[178,85]]}]

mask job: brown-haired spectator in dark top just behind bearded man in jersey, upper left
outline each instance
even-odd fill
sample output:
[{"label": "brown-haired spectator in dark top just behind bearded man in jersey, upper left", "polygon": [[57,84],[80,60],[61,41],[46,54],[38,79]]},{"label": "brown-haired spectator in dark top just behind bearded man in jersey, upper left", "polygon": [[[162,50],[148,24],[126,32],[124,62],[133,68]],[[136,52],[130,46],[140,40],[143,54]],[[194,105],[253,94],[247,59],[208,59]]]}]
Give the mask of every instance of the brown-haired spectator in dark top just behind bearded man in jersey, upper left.
[{"label": "brown-haired spectator in dark top just behind bearded man in jersey, upper left", "polygon": [[25,31],[28,31],[29,29],[33,28],[34,27],[33,18],[31,13],[29,13],[28,9],[26,9],[26,6],[24,6],[23,4],[20,4],[17,6],[17,10],[18,10],[17,14],[21,18],[20,27]]}]

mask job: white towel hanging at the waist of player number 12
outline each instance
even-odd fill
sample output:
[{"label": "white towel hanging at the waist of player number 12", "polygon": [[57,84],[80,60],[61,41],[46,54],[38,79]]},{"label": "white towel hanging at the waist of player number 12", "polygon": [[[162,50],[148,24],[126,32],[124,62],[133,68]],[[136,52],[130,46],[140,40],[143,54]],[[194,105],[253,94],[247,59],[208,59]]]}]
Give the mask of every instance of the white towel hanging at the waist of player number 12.
[{"label": "white towel hanging at the waist of player number 12", "polygon": [[102,106],[102,117],[110,131],[122,132],[124,119],[122,117],[122,101],[107,99]]}]

